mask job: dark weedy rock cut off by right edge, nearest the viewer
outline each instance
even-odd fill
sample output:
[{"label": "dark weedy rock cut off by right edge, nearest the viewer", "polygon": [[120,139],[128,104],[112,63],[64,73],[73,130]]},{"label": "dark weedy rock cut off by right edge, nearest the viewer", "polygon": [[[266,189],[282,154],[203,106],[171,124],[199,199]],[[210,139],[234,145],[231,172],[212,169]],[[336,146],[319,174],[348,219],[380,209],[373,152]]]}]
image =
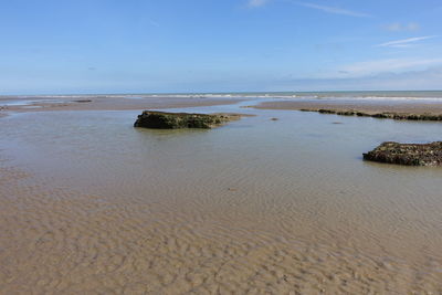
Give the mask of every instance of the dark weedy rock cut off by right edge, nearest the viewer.
[{"label": "dark weedy rock cut off by right edge, nearest the viewer", "polygon": [[364,159],[407,166],[441,166],[442,141],[424,145],[388,141],[364,154]]}]

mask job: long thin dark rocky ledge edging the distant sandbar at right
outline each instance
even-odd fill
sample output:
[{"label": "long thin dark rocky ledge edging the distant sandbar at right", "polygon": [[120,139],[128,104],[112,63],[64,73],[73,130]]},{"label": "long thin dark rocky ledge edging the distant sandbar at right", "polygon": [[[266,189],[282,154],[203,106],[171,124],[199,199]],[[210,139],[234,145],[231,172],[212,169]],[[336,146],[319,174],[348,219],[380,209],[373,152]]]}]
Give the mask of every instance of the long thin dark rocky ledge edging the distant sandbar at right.
[{"label": "long thin dark rocky ledge edging the distant sandbar at right", "polygon": [[311,109],[311,108],[302,108],[302,112],[317,112],[320,114],[333,114],[340,116],[358,116],[358,117],[372,117],[380,119],[409,119],[409,120],[442,120],[442,115],[438,114],[409,114],[409,113],[393,113],[393,112],[383,112],[383,113],[364,113],[359,110],[338,110],[338,109],[328,109],[328,108],[319,108],[319,109]]}]

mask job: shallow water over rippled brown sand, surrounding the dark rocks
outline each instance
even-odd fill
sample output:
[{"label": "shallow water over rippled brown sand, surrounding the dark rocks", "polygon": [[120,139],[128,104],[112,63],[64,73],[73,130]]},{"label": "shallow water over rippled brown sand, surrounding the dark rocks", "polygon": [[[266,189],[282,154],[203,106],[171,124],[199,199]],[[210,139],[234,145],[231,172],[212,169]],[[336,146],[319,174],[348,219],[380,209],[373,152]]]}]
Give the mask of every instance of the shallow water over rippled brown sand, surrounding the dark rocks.
[{"label": "shallow water over rippled brown sand, surrounding the dark rocks", "polygon": [[212,130],[2,118],[0,291],[442,292],[442,169],[361,159],[441,124],[255,103],[182,109],[256,115]]}]

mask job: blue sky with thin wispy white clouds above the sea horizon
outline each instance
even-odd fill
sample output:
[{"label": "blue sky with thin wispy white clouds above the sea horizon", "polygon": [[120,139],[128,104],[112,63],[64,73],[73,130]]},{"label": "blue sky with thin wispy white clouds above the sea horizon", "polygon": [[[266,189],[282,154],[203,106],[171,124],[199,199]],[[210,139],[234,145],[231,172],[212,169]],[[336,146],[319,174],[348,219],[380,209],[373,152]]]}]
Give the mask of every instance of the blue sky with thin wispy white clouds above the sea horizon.
[{"label": "blue sky with thin wispy white clouds above the sea horizon", "polygon": [[0,0],[0,95],[442,89],[441,0]]}]

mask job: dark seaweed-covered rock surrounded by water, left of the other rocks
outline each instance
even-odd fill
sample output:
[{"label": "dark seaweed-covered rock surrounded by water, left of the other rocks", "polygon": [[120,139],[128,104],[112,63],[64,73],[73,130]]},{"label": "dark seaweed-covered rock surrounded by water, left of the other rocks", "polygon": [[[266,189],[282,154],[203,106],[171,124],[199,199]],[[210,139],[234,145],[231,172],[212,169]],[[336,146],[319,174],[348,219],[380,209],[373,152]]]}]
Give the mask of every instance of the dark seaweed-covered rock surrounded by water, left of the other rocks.
[{"label": "dark seaweed-covered rock surrounded by water, left of the other rocks", "polygon": [[138,116],[134,127],[156,129],[179,129],[179,128],[212,128],[229,120],[238,118],[235,115],[224,114],[188,114],[188,113],[165,113],[145,110]]}]

